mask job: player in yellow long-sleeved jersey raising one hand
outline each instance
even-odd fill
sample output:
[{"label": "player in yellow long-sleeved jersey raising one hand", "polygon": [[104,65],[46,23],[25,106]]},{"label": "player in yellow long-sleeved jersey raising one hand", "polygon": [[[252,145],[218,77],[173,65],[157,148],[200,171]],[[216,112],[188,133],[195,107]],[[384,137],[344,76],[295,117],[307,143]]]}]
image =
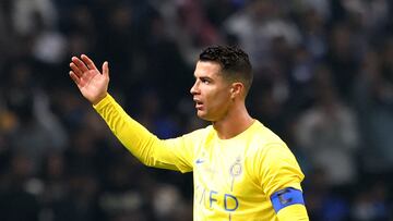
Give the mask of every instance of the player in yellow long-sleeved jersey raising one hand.
[{"label": "player in yellow long-sleeved jersey raising one hand", "polygon": [[202,51],[191,94],[199,118],[212,125],[158,139],[108,94],[109,67],[100,73],[82,54],[70,76],[119,140],[144,164],[193,171],[193,220],[308,220],[303,174],[288,147],[252,119],[245,100],[252,83],[248,56],[231,47]]}]

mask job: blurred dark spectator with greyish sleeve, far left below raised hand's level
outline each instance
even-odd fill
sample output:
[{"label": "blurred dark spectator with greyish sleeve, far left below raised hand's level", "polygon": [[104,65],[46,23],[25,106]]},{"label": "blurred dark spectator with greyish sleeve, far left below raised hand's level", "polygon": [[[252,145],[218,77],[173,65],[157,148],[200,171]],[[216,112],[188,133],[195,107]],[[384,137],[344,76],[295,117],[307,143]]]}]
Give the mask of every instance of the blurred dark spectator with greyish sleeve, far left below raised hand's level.
[{"label": "blurred dark spectator with greyish sleeve, far left below raised hand's level", "polygon": [[68,139],[64,128],[49,109],[48,98],[34,85],[33,77],[28,63],[15,63],[10,70],[4,99],[7,109],[15,116],[9,134],[14,151],[28,156],[33,171],[37,172],[45,152],[64,148]]}]

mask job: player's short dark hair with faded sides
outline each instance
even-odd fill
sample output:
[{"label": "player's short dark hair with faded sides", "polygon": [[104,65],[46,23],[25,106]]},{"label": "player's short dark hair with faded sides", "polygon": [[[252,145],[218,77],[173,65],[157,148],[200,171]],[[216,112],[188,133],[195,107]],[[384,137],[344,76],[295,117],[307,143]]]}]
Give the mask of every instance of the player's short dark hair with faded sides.
[{"label": "player's short dark hair with faded sides", "polygon": [[245,51],[230,46],[211,46],[200,53],[199,59],[217,62],[222,66],[224,77],[243,83],[246,95],[248,94],[253,75],[249,57]]}]

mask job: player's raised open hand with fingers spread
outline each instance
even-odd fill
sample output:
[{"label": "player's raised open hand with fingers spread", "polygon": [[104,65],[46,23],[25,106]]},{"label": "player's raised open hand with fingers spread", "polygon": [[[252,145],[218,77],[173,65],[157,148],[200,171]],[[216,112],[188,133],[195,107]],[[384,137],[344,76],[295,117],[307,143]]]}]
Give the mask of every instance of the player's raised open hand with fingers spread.
[{"label": "player's raised open hand with fingers spread", "polygon": [[91,103],[97,105],[105,98],[109,84],[109,66],[108,62],[103,63],[103,73],[98,71],[94,62],[85,54],[81,59],[71,58],[70,76]]}]

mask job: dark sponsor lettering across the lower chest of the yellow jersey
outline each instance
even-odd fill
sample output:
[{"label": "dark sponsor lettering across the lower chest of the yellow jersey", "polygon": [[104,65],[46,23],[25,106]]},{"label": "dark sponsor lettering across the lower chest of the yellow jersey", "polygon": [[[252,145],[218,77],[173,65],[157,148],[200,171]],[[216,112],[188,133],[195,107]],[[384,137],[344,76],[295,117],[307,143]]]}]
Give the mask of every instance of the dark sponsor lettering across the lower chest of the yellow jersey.
[{"label": "dark sponsor lettering across the lower chest of the yellow jersey", "polygon": [[213,209],[217,204],[226,211],[235,211],[239,208],[239,200],[236,196],[205,188],[195,189],[195,204],[204,205],[209,209]]}]

